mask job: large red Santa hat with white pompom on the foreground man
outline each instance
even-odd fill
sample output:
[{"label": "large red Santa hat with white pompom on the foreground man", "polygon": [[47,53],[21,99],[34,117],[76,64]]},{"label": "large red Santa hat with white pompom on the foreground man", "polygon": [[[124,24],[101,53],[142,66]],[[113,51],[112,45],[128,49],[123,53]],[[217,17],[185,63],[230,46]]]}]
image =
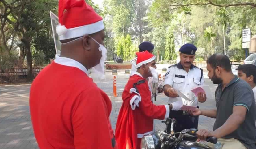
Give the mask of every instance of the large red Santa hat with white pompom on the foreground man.
[{"label": "large red Santa hat with white pompom on the foreground man", "polygon": [[102,17],[85,0],[60,0],[59,23],[56,32],[60,40],[82,37],[104,29]]}]

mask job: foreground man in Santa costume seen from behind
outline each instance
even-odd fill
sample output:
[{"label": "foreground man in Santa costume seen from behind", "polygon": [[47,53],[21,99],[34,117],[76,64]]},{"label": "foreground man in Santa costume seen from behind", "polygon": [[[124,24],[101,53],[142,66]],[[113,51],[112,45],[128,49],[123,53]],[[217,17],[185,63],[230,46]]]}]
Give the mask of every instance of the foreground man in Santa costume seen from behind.
[{"label": "foreground man in Santa costume seen from behind", "polygon": [[88,77],[104,74],[104,25],[84,0],[59,1],[60,56],[31,85],[29,105],[40,149],[117,148],[111,101]]}]

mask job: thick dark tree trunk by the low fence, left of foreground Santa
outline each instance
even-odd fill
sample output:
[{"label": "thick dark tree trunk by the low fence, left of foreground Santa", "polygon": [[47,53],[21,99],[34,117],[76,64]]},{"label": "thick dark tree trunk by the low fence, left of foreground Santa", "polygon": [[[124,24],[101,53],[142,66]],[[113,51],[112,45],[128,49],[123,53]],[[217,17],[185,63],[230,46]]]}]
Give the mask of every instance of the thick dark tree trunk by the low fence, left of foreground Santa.
[{"label": "thick dark tree trunk by the low fence, left of foreground Santa", "polygon": [[26,49],[26,55],[27,55],[27,80],[32,80],[33,79],[33,75],[32,75],[32,54],[31,54],[31,50],[30,50],[30,41],[28,39],[21,39],[21,41],[24,43],[25,45],[25,49]]}]

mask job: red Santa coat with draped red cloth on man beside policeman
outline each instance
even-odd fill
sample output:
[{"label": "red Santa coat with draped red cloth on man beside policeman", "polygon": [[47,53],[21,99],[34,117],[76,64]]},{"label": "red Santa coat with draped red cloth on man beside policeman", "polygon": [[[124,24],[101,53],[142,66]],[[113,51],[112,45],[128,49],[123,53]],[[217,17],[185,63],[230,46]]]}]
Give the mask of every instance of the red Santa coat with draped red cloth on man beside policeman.
[{"label": "red Santa coat with draped red cloth on man beside policeman", "polygon": [[125,85],[122,99],[116,123],[116,141],[120,149],[135,149],[140,143],[138,138],[154,133],[153,119],[169,116],[169,106],[153,104],[148,82],[138,72]]}]

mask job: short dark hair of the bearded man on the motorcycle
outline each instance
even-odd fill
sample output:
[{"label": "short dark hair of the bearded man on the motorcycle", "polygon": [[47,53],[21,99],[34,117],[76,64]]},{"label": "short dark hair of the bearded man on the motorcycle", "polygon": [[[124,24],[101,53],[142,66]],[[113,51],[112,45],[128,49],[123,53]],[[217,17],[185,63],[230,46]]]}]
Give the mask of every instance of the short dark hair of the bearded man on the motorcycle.
[{"label": "short dark hair of the bearded man on the motorcycle", "polygon": [[214,70],[217,68],[217,66],[219,66],[227,72],[232,71],[230,60],[224,54],[213,54],[206,62],[207,64],[211,65]]}]

